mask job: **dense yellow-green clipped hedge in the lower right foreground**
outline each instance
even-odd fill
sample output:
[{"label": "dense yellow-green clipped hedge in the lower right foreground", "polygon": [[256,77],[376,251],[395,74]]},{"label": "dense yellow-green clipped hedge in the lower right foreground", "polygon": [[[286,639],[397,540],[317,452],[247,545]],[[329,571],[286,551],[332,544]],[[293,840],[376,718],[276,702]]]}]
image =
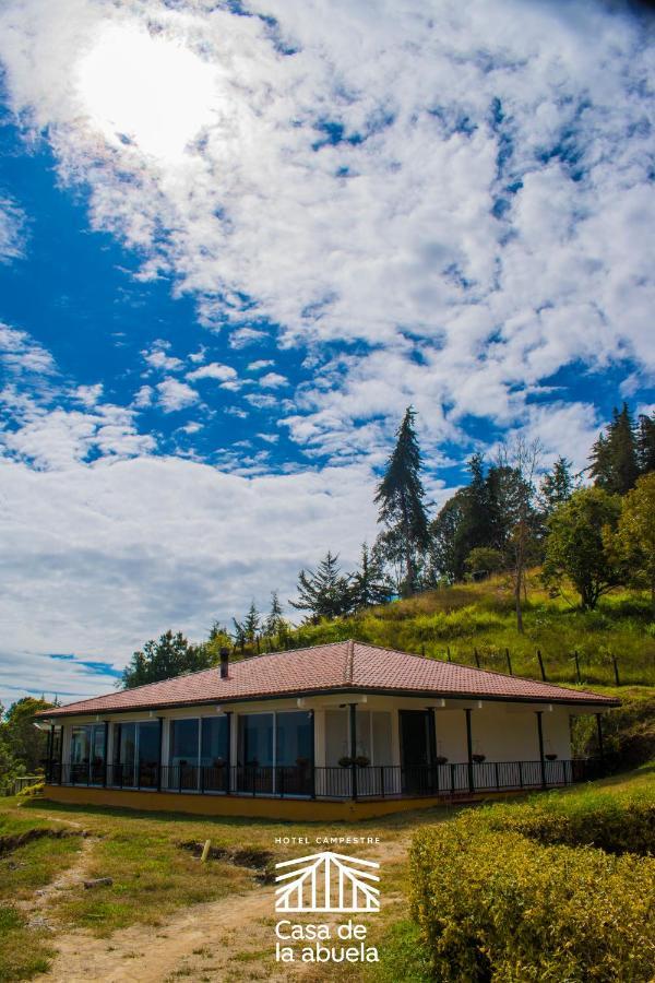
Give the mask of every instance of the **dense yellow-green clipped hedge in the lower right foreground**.
[{"label": "dense yellow-green clipped hedge in the lower right foreground", "polygon": [[436,979],[646,983],[655,860],[455,821],[417,833],[412,910]]}]

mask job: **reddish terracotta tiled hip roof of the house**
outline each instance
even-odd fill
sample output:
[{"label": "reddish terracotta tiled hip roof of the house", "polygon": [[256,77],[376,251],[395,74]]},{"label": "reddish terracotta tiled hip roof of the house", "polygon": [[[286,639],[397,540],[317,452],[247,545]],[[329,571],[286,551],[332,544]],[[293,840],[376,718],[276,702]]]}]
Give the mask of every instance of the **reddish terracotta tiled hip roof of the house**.
[{"label": "reddish terracotta tiled hip roof of the house", "polygon": [[361,691],[434,697],[474,697],[560,703],[604,703],[618,700],[550,683],[489,673],[451,662],[360,642],[333,642],[310,649],[272,652],[230,662],[229,676],[218,668],[177,676],[45,710],[41,716],[153,710],[198,703],[225,703],[317,692]]}]

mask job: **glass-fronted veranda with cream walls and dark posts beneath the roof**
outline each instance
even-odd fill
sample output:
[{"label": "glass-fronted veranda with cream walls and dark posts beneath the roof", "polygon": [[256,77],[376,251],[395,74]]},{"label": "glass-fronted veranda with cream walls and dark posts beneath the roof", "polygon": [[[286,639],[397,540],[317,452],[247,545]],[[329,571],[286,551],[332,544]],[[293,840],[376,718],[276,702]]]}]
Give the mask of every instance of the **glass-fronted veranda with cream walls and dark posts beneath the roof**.
[{"label": "glass-fronted veranda with cream walls and dark posts beneath the roof", "polygon": [[598,709],[342,692],[53,720],[46,778],[119,802],[211,796],[216,814],[226,798],[462,800],[598,777],[570,746],[573,713],[596,712],[602,736]]}]

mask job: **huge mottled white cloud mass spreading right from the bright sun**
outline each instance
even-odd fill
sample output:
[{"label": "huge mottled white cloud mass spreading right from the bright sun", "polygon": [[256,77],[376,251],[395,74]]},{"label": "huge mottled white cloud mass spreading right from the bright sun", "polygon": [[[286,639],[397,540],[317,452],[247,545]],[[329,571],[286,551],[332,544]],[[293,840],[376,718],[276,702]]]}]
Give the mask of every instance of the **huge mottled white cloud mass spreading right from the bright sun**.
[{"label": "huge mottled white cloud mass spreading right from the bright sun", "polygon": [[348,406],[376,428],[386,400],[420,402],[434,434],[443,404],[453,422],[513,425],[562,365],[655,366],[655,54],[636,15],[556,0],[249,10],[262,16],[10,0],[0,45],[13,105],[48,128],[62,179],[88,182],[93,226],[145,257],[142,276],[171,273],[236,350],[266,323],[282,345],[365,343],[332,394],[320,378],[307,390],[295,439],[331,448],[361,421]]}]

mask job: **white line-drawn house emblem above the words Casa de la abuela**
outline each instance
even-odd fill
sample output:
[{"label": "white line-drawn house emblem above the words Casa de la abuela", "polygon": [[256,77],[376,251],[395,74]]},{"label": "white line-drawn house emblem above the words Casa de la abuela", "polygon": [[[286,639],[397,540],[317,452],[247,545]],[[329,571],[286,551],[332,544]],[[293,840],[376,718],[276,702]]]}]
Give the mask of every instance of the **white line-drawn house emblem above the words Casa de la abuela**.
[{"label": "white line-drawn house emblem above the words Casa de la abuela", "polygon": [[275,867],[287,868],[275,878],[275,911],[380,911],[373,861],[325,851]]}]

